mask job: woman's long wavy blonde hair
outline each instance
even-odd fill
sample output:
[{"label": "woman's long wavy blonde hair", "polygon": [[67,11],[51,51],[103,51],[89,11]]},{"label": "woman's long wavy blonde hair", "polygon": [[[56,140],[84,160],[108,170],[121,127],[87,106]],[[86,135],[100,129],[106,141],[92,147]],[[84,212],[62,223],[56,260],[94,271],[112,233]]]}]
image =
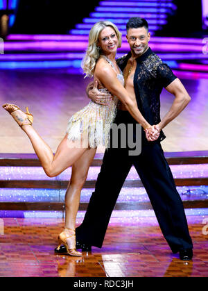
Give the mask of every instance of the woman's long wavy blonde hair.
[{"label": "woman's long wavy blonde hair", "polygon": [[98,38],[103,31],[103,28],[110,26],[114,29],[116,36],[119,41],[119,47],[121,47],[122,35],[119,29],[113,24],[112,22],[97,22],[92,26],[91,30],[89,31],[89,42],[87,51],[85,54],[85,58],[83,59],[82,68],[85,72],[85,78],[87,76],[92,77],[94,75],[94,69],[96,66],[96,61],[98,60],[99,56],[101,55],[101,48],[98,47]]}]

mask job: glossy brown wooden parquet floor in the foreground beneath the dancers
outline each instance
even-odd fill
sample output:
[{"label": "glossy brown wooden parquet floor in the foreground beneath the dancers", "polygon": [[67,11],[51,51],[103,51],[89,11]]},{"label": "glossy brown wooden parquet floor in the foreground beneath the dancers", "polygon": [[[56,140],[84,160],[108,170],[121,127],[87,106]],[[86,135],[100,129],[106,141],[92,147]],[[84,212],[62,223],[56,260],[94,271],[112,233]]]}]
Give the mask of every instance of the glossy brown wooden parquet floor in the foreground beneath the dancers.
[{"label": "glossy brown wooden parquet floor in the foreground beneath the dancers", "polygon": [[[1,219],[0,276],[12,277],[207,277],[208,216],[188,216],[193,260],[171,253],[155,217],[111,219],[102,249],[82,258],[53,252],[62,219]],[[79,224],[79,222],[78,222]],[[3,227],[4,226],[4,229]]]}]

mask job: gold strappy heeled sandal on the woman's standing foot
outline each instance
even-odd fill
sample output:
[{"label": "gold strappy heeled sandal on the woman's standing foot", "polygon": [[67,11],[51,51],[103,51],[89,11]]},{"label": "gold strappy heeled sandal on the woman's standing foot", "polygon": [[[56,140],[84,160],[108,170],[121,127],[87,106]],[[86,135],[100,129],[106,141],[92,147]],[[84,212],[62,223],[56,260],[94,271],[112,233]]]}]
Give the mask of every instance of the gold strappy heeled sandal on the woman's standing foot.
[{"label": "gold strappy heeled sandal on the woman's standing foot", "polygon": [[[73,233],[67,233],[67,230],[69,231],[73,231]],[[69,247],[69,245],[67,244],[67,240],[69,238],[73,238],[72,241],[72,247]],[[62,231],[62,233],[60,233],[60,235],[58,235],[58,247],[57,250],[60,249],[61,244],[64,244],[64,246],[67,249],[67,253],[69,254],[69,256],[83,256],[83,253],[80,253],[80,251],[76,251],[76,235],[75,235],[75,230],[71,229],[71,228],[64,228],[64,231]]]}]

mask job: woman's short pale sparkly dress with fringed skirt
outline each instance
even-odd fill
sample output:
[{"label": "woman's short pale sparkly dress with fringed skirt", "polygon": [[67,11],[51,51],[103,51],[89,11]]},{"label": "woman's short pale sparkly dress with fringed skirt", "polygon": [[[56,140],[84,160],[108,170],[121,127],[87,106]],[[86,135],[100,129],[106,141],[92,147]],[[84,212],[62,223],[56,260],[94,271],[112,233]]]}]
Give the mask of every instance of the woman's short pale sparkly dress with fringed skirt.
[{"label": "woman's short pale sparkly dress with fringed skirt", "polygon": [[[112,61],[107,57],[105,59],[114,68]],[[124,85],[121,70],[120,74],[117,74],[117,78]],[[108,92],[106,88],[102,88],[99,91]],[[107,148],[110,127],[116,116],[118,101],[119,99],[115,96],[112,101],[108,101],[107,106],[90,101],[87,106],[72,115],[67,125],[68,140],[76,142],[76,146],[77,142],[79,142],[80,147],[96,148],[104,146]]]}]

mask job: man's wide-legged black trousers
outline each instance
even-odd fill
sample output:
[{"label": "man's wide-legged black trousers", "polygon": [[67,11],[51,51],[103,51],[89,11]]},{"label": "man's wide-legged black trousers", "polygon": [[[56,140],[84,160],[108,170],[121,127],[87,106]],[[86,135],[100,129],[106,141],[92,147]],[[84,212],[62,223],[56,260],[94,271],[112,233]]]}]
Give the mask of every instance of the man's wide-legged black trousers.
[{"label": "man's wide-legged black trousers", "polygon": [[[135,119],[128,112],[117,113],[116,124],[134,122]],[[146,189],[171,250],[176,252],[180,249],[191,249],[193,244],[182,200],[160,142],[142,142],[139,156],[130,156],[127,148],[110,148],[105,151],[101,172],[98,174],[85,218],[76,228],[76,240],[102,247],[112,210],[132,165]]]}]

